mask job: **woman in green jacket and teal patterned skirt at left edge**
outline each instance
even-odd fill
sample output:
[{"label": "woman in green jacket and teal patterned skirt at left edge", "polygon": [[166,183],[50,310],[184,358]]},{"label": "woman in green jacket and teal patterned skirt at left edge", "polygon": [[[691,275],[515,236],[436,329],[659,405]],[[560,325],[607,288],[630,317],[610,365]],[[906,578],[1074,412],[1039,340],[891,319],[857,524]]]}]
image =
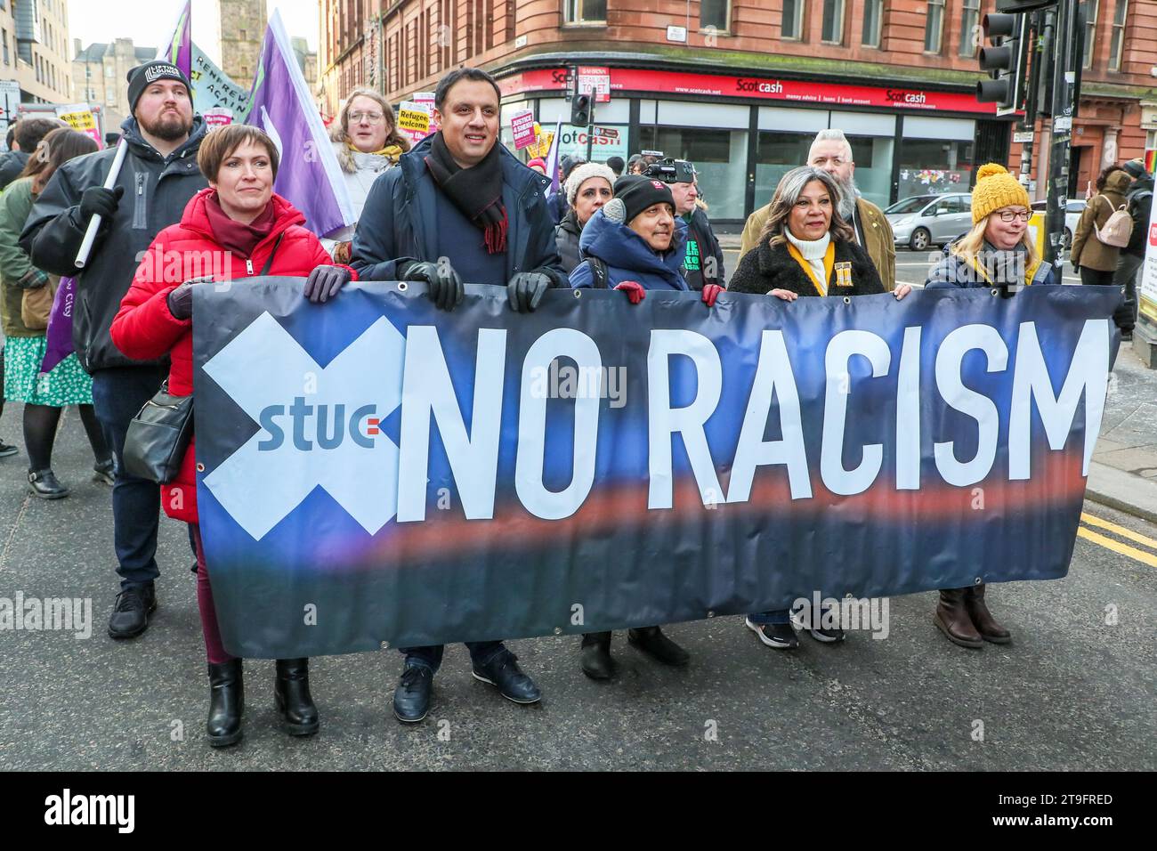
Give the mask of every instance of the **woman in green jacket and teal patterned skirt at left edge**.
[{"label": "woman in green jacket and teal patterned skirt at left edge", "polygon": [[28,452],[28,489],[42,499],[60,499],[71,492],[52,471],[52,448],[60,415],[78,405],[93,447],[94,479],[111,485],[112,454],[93,410],[93,380],[75,354],[49,373],[40,374],[47,349],[45,336],[52,296],[59,278],[35,267],[20,247],[20,234],[32,204],[58,168],[96,151],[84,133],[57,127],[40,140],[35,155],[16,181],[0,196],[0,279],[3,299],[3,397],[23,402],[24,448]]}]

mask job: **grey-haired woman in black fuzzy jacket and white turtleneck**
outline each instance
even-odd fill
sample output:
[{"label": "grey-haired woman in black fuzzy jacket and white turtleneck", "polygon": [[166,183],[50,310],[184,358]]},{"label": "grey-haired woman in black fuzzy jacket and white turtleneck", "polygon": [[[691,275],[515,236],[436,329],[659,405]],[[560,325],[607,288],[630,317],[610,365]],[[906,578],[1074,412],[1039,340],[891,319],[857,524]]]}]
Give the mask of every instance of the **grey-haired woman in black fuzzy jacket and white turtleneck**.
[{"label": "grey-haired woman in black fuzzy jacket and white turtleneck", "polygon": [[[774,295],[789,303],[801,295],[883,293],[876,265],[840,218],[839,203],[839,186],[823,169],[803,166],[783,175],[759,242],[739,261],[728,292]],[[901,284],[893,295],[902,299],[911,289]],[[821,628],[818,611],[813,617],[812,623],[801,624],[812,638],[843,640],[843,630]],[[799,646],[789,609],[749,615],[746,625],[768,647]]]}]

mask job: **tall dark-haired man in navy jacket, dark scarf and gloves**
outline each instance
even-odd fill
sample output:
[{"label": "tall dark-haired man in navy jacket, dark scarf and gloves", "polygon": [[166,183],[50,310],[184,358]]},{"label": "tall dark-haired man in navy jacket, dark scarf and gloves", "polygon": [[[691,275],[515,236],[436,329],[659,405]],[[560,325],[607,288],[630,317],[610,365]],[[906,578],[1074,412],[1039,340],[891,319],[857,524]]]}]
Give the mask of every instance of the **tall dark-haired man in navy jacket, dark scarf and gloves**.
[{"label": "tall dark-haired man in navy jacket, dark scarf and gloves", "polygon": [[[543,189],[499,135],[498,83],[485,71],[451,71],[434,94],[441,131],[401,156],[370,189],[354,234],[351,265],[363,280],[420,280],[437,307],[452,310],[464,281],[506,285],[510,307],[533,310],[567,281]],[[538,687],[499,640],[466,644],[474,677],[515,703],[537,703]],[[399,721],[429,712],[442,646],[403,648],[393,695]]]}]

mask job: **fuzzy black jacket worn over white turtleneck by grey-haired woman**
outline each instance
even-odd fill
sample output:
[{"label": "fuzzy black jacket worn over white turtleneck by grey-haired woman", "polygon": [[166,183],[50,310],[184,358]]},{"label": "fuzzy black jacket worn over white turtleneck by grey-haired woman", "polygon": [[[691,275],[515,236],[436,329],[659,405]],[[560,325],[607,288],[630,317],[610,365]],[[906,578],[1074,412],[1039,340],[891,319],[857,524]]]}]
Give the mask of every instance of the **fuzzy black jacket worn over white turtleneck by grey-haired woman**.
[{"label": "fuzzy black jacket worn over white turtleneck by grey-haired woman", "polygon": [[[884,284],[876,271],[876,264],[860,245],[846,240],[832,240],[835,243],[834,263],[852,264],[850,286],[840,285],[839,270],[832,266],[827,279],[828,295],[876,295],[884,292]],[[729,293],[752,293],[766,295],[773,289],[788,289],[797,295],[819,295],[816,281],[805,272],[791,256],[787,243],[772,245],[771,240],[764,240],[751,251],[739,258],[731,280],[727,285]]]}]

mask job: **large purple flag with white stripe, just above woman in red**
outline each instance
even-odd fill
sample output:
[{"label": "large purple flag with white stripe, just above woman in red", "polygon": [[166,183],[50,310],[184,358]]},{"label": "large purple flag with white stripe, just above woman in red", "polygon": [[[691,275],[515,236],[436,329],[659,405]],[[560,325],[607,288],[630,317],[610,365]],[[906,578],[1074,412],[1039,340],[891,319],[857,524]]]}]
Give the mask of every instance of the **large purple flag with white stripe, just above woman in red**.
[{"label": "large purple flag with white stripe, just above woman in red", "polygon": [[244,123],[264,130],[278,146],[281,166],[273,191],[305,214],[305,227],[322,236],[354,223],[341,167],[277,10],[265,30]]}]

